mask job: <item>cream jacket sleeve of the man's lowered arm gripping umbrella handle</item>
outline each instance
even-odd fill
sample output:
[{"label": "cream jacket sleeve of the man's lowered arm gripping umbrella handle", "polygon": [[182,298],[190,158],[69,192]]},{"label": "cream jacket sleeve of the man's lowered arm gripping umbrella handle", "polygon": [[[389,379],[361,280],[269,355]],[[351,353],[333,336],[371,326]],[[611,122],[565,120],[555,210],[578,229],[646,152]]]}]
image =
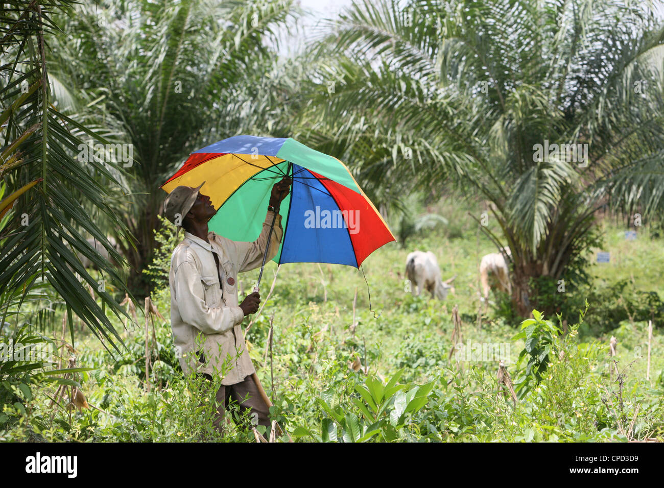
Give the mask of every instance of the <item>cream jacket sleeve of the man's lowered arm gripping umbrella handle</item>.
[{"label": "cream jacket sleeve of the man's lowered arm gripping umbrella handle", "polygon": [[205,304],[205,289],[195,264],[185,261],[175,271],[175,299],[185,321],[205,334],[220,334],[244,318],[240,307],[210,308]]}]

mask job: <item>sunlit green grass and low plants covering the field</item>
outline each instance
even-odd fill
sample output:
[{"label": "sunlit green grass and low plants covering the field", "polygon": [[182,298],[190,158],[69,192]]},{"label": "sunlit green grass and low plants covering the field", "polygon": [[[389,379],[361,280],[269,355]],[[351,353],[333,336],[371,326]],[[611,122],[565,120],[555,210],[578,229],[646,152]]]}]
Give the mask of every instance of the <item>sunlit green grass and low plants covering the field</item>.
[{"label": "sunlit green grass and low plants covering the field", "polygon": [[[483,254],[494,252],[491,243],[451,204],[443,202],[432,210],[446,216],[454,232],[444,227],[428,230],[426,235],[411,238],[404,249],[392,242],[363,264],[373,312],[369,311],[367,284],[355,268],[327,264],[285,264],[280,268],[274,293],[247,339],[262,384],[271,394],[269,356],[264,359],[264,351],[268,319],[274,315],[273,413],[291,436],[319,440],[326,439],[329,431],[336,433],[339,440],[344,434],[349,440],[358,428],[356,439],[367,434],[370,440],[415,442],[662,438],[664,409],[659,399],[664,392],[663,339],[661,330],[655,328],[650,378],[646,380],[647,323],[642,321],[616,323],[596,337],[575,333],[575,337],[556,339],[556,351],[566,353],[560,357],[556,353],[548,359],[550,369],[542,383],[521,398],[516,408],[502,396],[497,398],[497,361],[459,365],[454,359],[448,361],[453,347],[450,317],[454,305],[459,308],[464,343],[509,345],[508,371],[513,380],[525,367],[525,363],[516,363],[524,342],[512,339],[519,331],[519,323],[499,315],[493,300],[481,326],[477,324],[481,305],[478,264]],[[626,241],[622,230],[603,225],[604,250],[611,252],[611,262],[591,266],[596,285],[626,279],[633,290],[657,291],[664,296],[664,240],[650,240],[645,237],[647,232],[641,232],[636,241]],[[404,290],[406,255],[416,248],[436,254],[444,279],[457,274],[455,292],[446,301],[412,297]],[[276,268],[273,262],[266,266],[261,287],[264,299]],[[248,291],[257,276],[258,270],[242,275],[240,287]],[[356,290],[357,328],[351,335]],[[168,317],[168,290],[161,289],[153,299]],[[590,303],[588,321],[592,307],[597,305]],[[142,323],[140,319],[139,322]],[[591,331],[593,324],[586,326]],[[152,382],[161,378],[162,388],[153,387],[150,394],[146,394],[142,379],[143,330],[122,331],[119,324],[118,331],[129,347],[122,366],[92,335],[82,334],[76,344],[80,352],[77,365],[95,368],[82,375],[83,391],[88,402],[105,413],[84,410],[74,412],[70,418],[58,410],[56,418],[60,423],[52,424],[41,436],[49,440],[196,440],[197,422],[205,421],[208,414],[195,410],[197,396],[179,378],[178,368],[171,367],[174,363],[168,321],[157,323],[162,361],[159,376]],[[609,373],[611,335],[618,339],[618,367],[627,374],[622,387],[624,412],[612,413],[603,402],[608,398],[616,404],[614,393],[621,393],[619,385],[612,382],[615,376]],[[349,367],[356,358],[368,367],[368,374]],[[394,398],[385,400],[386,412],[390,412],[387,416],[369,418],[359,406],[365,402],[365,408],[371,407],[359,394],[361,388],[373,391],[371,378],[387,382],[398,371],[401,376],[397,384],[404,385],[402,391],[411,391],[414,398],[418,398],[419,391],[424,405],[401,413],[397,406],[406,396],[400,397],[402,393],[396,392]],[[430,391],[417,389],[416,385],[429,382]],[[42,403],[37,402],[32,412],[43,416],[48,410],[45,397],[38,398]],[[553,412],[555,417],[548,408],[552,403],[559,405],[560,412]],[[51,411],[52,408],[48,410]],[[634,415],[633,432],[622,432],[622,417],[631,421]],[[393,422],[391,416],[395,417]],[[29,415],[24,424],[26,429],[31,425]],[[372,434],[374,430],[376,434]],[[0,432],[0,440],[23,435],[21,428],[15,428]],[[252,436],[246,428],[232,427],[226,440],[252,440]]]}]

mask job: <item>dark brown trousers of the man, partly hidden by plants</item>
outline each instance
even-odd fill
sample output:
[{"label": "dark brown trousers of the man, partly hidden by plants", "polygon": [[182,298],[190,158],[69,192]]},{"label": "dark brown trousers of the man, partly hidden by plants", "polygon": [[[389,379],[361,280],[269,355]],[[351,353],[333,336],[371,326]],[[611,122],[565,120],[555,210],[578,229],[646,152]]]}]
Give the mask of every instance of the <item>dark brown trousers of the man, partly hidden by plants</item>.
[{"label": "dark brown trousers of the man, partly hidden by plants", "polygon": [[[212,376],[207,373],[204,373],[203,376],[212,382]],[[239,383],[222,384],[216,391],[215,403],[217,408],[212,426],[222,435],[224,434],[224,411],[228,409],[231,401],[238,404],[242,414],[247,410],[249,411],[248,416],[252,425],[266,426],[266,433],[270,432],[270,410],[260,396],[258,386],[256,386],[251,374],[245,376],[244,380]],[[233,422],[236,422],[236,420],[233,419]]]}]

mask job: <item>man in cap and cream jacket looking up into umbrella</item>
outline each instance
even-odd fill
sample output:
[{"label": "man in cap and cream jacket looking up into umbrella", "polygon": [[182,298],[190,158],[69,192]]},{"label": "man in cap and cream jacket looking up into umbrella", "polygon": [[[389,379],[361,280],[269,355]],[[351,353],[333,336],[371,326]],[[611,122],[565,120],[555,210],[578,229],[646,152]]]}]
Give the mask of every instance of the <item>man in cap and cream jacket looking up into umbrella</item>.
[{"label": "man in cap and cream jacket looking up into umbrella", "polygon": [[[252,378],[256,372],[244,345],[242,319],[258,311],[260,295],[250,293],[238,305],[237,275],[262,264],[268,233],[276,214],[268,259],[276,256],[284,230],[278,213],[291,179],[284,177],[270,194],[263,229],[254,242],[236,242],[208,232],[216,209],[197,188],[180,186],[164,201],[164,214],[185,229],[171,258],[171,329],[185,376],[196,372],[208,380],[220,376],[214,427],[223,432],[224,409],[230,400],[258,424],[270,428],[269,410]],[[245,399],[246,398],[246,399]]]}]

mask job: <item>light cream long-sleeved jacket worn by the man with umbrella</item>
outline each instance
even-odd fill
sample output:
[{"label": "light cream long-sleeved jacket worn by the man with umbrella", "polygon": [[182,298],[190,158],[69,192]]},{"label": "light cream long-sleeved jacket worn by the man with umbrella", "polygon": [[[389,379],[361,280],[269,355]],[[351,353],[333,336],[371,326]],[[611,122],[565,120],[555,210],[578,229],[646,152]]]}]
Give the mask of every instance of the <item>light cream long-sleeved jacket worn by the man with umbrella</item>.
[{"label": "light cream long-sleeved jacket worn by the man with umbrella", "polygon": [[[228,385],[256,372],[240,327],[244,312],[238,306],[238,272],[254,270],[262,264],[273,216],[274,212],[268,211],[262,232],[254,242],[236,242],[214,232],[208,233],[210,242],[205,242],[185,232],[185,238],[173,251],[169,274],[171,329],[185,375],[193,369],[219,374],[222,384]],[[268,260],[276,256],[283,236],[282,216],[277,215]],[[218,273],[212,252],[218,254]],[[226,373],[222,374],[224,368]]]}]

